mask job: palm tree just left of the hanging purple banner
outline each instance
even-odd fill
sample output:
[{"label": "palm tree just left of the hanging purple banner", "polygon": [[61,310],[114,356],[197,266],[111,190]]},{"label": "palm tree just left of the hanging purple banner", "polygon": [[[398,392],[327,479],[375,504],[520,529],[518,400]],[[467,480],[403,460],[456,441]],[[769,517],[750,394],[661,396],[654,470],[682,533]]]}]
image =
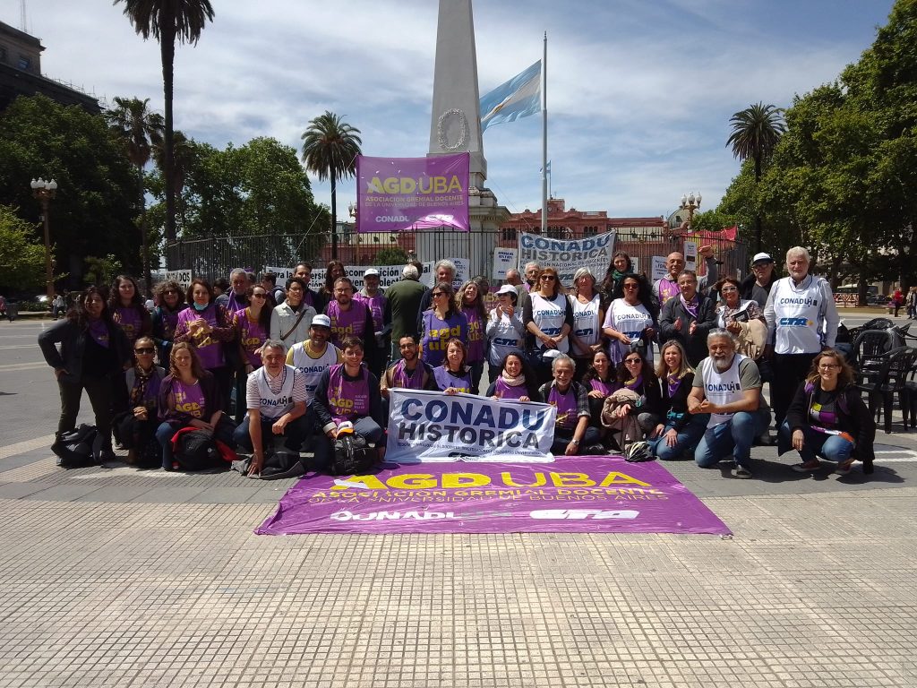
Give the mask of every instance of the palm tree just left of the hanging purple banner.
[{"label": "palm tree just left of the hanging purple banner", "polygon": [[337,180],[357,172],[359,129],[328,110],[309,122],[303,133],[305,169],[324,182],[331,179],[331,258],[337,260]]}]

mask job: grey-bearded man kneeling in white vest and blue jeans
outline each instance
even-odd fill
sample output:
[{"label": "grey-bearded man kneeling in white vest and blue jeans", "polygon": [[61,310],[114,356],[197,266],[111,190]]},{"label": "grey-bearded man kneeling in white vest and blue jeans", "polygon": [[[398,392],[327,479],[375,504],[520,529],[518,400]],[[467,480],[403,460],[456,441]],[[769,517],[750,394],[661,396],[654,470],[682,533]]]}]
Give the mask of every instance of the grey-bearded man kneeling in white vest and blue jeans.
[{"label": "grey-bearded man kneeling in white vest and blue jeans", "polygon": [[724,329],[707,336],[710,356],[701,361],[688,412],[710,414],[710,422],[694,461],[701,468],[713,468],[732,455],[735,478],[752,477],[751,444],[770,425],[770,409],[761,396],[761,375],[755,361],[735,352],[735,338]]}]

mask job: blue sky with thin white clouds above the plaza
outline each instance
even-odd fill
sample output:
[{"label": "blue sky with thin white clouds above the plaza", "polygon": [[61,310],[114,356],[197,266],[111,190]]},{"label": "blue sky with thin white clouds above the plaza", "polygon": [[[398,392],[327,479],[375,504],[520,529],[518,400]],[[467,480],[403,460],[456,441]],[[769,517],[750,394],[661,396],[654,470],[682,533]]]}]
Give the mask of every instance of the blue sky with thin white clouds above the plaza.
[{"label": "blue sky with thin white clouds above the plaza", "polygon": [[[218,147],[271,136],[295,148],[331,110],[363,152],[426,153],[436,0],[212,0],[199,44],[179,47],[175,126]],[[738,161],[731,115],[832,81],[886,23],[892,0],[488,0],[474,6],[481,94],[541,56],[548,35],[554,195],[610,216],[668,215],[686,191],[714,207]],[[110,0],[27,0],[43,72],[162,107],[159,47]],[[20,27],[20,0],[0,0]],[[541,118],[484,133],[487,185],[511,212],[540,206]],[[315,199],[329,202],[313,180]],[[355,200],[338,186],[338,207]]]}]

